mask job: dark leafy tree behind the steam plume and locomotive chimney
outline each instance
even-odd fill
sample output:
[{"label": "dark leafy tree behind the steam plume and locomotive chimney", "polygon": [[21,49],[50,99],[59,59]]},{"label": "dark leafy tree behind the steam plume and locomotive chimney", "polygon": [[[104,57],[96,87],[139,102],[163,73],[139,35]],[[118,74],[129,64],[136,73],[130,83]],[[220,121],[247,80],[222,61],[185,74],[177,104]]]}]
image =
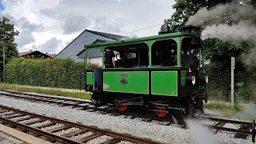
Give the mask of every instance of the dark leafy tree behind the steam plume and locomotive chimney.
[{"label": "dark leafy tree behind the steam plume and locomotive chimney", "polygon": [[[209,10],[218,4],[227,4],[229,2],[232,2],[232,0],[175,0],[173,8],[176,11],[169,19],[166,19],[165,22],[170,25],[171,30],[178,30],[181,26],[184,26],[190,16],[196,14],[198,10],[202,8]],[[251,4],[256,6],[256,0],[252,0]],[[203,29],[204,26],[201,27]],[[212,66],[214,66],[214,69],[210,69],[210,71],[219,70],[219,72],[226,72],[226,70],[230,69],[230,57],[237,57],[242,54],[242,52],[247,52],[249,49],[247,42],[224,42],[217,38],[207,38],[204,42],[206,44],[206,58],[210,59],[213,64]],[[239,65],[239,68],[243,69],[241,62],[237,61],[237,65]]]}]

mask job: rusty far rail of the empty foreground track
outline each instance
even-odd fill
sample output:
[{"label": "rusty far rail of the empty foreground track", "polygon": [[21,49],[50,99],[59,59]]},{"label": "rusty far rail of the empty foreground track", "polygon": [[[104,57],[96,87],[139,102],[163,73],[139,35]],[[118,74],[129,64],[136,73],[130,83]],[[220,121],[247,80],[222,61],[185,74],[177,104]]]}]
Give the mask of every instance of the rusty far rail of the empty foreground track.
[{"label": "rusty far rail of the empty foreground track", "polygon": [[[82,130],[90,130],[94,133],[104,134],[104,135],[108,135],[108,136],[111,136],[111,137],[114,137],[114,138],[121,138],[122,140],[125,140],[125,141],[138,142],[138,143],[149,143],[149,144],[151,144],[151,143],[152,144],[161,143],[161,142],[154,142],[154,141],[152,141],[148,138],[138,138],[138,137],[135,137],[135,136],[131,136],[130,134],[122,134],[122,133],[114,132],[114,131],[111,131],[111,130],[104,130],[104,129],[100,129],[100,128],[95,127],[95,126],[86,126],[86,125],[83,125],[83,124],[80,124],[80,123],[69,122],[69,121],[66,121],[66,120],[58,119],[58,118],[50,118],[50,117],[47,117],[47,116],[44,116],[44,115],[34,114],[34,113],[30,113],[30,112],[23,111],[23,110],[17,110],[17,109],[14,109],[14,108],[10,108],[8,106],[0,105],[0,108],[6,109],[6,110],[11,110],[11,111],[14,111],[14,112],[17,112],[17,113],[20,113],[20,114],[30,115],[34,118],[42,118],[42,119],[45,119],[45,120],[50,120],[52,122],[62,123],[62,124],[65,124],[67,126],[74,126],[74,127],[79,128],[79,129],[82,129]],[[6,121],[6,119],[4,121]],[[60,139],[61,138],[62,137],[60,137]]]}]

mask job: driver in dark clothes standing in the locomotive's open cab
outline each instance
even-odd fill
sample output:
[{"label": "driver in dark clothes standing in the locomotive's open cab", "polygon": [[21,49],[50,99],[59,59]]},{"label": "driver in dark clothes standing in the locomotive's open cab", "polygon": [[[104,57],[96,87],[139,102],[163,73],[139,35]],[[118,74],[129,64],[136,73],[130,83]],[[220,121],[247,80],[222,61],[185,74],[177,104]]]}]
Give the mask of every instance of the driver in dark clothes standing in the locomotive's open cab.
[{"label": "driver in dark clothes standing in the locomotive's open cab", "polygon": [[104,64],[105,68],[115,68],[114,52],[112,48],[106,49],[106,53],[104,55]]}]

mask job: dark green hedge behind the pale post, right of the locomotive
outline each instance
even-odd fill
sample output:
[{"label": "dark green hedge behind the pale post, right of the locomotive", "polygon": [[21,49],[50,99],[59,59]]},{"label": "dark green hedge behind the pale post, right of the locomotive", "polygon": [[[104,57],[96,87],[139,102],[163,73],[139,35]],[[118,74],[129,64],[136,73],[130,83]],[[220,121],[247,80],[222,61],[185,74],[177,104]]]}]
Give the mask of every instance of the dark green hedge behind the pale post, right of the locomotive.
[{"label": "dark green hedge behind the pale post, right of the locomotive", "polygon": [[[210,81],[206,85],[206,93],[210,100],[230,102],[230,73],[209,74]],[[235,101],[256,103],[256,74],[239,73],[234,75]]]}]

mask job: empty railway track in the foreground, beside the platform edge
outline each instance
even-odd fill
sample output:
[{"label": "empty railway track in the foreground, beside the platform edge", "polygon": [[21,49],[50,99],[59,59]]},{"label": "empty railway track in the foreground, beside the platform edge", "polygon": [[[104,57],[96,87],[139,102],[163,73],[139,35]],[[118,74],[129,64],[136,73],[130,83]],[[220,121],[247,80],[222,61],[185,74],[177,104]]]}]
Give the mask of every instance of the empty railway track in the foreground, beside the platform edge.
[{"label": "empty railway track in the foreground, beside the platform edge", "polygon": [[105,137],[106,141],[101,143],[118,143],[122,141],[160,143],[147,138],[138,138],[129,134],[99,129],[94,126],[86,126],[58,118],[50,118],[2,105],[0,105],[0,122],[4,125],[18,127],[18,129],[26,133],[32,132],[35,136],[43,136],[49,139],[50,142],[84,143]]}]

